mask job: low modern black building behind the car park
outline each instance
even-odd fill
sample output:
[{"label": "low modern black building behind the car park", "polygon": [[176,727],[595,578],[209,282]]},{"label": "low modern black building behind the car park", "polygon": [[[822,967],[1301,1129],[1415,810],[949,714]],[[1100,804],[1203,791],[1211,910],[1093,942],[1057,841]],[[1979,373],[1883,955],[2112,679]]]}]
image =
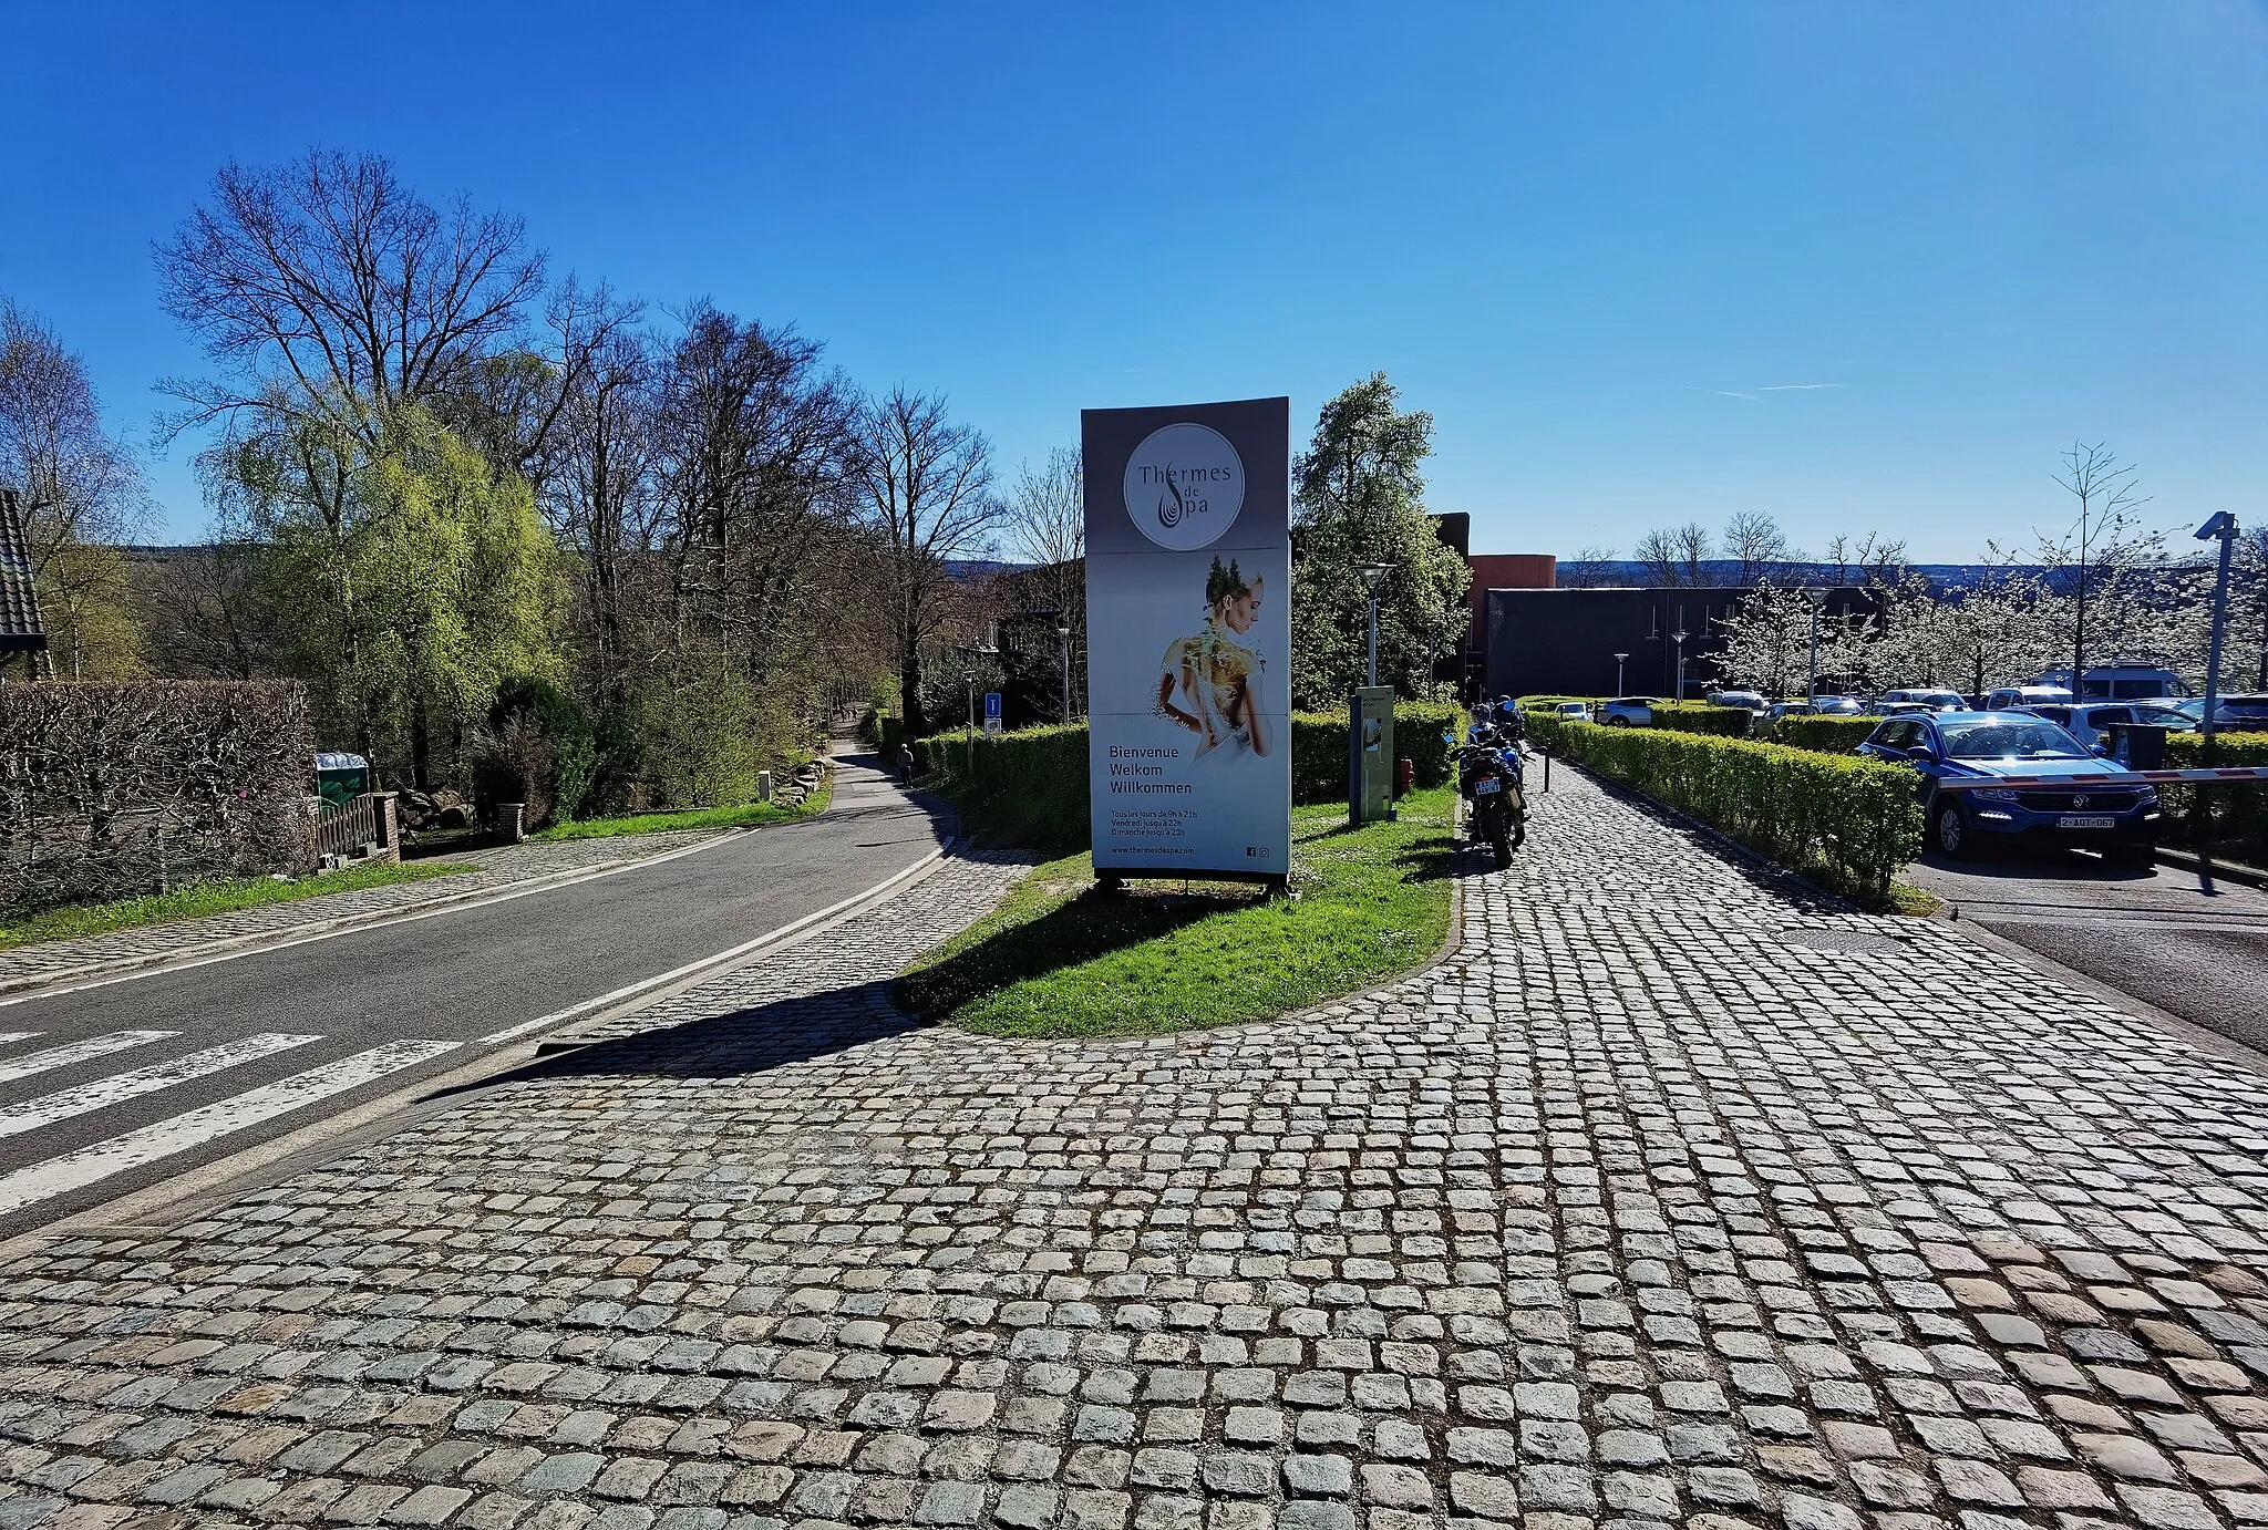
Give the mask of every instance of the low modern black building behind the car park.
[{"label": "low modern black building behind the car park", "polygon": [[[1721,623],[1753,587],[1490,589],[1488,696],[1685,696],[1719,687]],[[1826,612],[1873,610],[1864,589],[1828,589]],[[1678,635],[1685,635],[1683,644]],[[1619,662],[1615,655],[1626,655]]]}]

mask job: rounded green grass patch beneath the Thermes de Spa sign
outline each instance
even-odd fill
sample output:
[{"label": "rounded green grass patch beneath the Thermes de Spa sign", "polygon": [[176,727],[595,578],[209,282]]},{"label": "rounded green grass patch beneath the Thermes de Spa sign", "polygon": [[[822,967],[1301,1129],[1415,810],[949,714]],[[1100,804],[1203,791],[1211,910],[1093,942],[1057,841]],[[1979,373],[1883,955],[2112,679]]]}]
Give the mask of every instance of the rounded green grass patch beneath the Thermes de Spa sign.
[{"label": "rounded green grass patch beneath the Thermes de Spa sign", "polygon": [[1449,934],[1449,789],[1399,823],[1293,814],[1295,900],[1241,884],[1093,891],[1086,855],[1032,870],[1007,902],[898,979],[898,1002],[987,1036],[1150,1036],[1266,1020],[1431,961]]}]

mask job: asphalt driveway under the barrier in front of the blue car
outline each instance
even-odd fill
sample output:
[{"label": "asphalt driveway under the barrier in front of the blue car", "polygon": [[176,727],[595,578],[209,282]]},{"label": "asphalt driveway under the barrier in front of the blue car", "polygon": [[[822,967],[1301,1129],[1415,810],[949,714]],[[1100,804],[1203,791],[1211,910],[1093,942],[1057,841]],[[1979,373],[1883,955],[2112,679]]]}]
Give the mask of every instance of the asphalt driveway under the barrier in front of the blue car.
[{"label": "asphalt driveway under the barrier in front of the blue car", "polygon": [[2195,873],[2105,866],[2077,850],[1930,855],[1912,879],[1962,920],[2268,1052],[2268,893]]}]

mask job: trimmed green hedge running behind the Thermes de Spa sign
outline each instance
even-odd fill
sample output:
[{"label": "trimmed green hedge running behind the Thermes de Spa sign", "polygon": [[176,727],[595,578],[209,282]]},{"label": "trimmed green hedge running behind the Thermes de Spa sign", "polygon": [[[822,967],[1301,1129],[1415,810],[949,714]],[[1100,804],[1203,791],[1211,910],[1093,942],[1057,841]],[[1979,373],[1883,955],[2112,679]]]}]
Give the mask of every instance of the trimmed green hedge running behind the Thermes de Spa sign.
[{"label": "trimmed green hedge running behind the Thermes de Spa sign", "polygon": [[[1440,787],[1449,780],[1442,734],[1463,728],[1461,707],[1397,703],[1395,755],[1411,762],[1420,787]],[[1086,723],[1018,728],[998,739],[971,739],[968,730],[932,734],[914,741],[914,768],[1002,843],[1050,855],[1086,848]],[[1347,800],[1345,712],[1293,712],[1290,800]]]}]

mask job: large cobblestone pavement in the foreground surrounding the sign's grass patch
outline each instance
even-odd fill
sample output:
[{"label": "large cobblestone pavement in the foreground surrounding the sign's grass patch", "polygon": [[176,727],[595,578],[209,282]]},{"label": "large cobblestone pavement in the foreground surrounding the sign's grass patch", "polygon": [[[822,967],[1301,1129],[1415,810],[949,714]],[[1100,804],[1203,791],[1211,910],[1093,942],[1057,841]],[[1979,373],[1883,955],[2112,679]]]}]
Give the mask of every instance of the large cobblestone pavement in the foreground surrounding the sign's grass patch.
[{"label": "large cobblestone pavement in the foreground surrounding the sign's grass patch", "polygon": [[1572,771],[1284,1022],[909,1029],[1007,875],[20,1258],[0,1528],[2268,1523],[2245,1065]]}]

